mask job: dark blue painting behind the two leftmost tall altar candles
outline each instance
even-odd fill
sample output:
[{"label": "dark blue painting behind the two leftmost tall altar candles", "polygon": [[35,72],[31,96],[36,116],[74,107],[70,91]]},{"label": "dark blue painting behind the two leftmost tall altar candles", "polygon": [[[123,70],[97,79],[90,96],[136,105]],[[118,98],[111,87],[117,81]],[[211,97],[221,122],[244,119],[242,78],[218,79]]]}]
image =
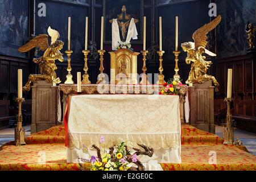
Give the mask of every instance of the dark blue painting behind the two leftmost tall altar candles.
[{"label": "dark blue painting behind the two leftmost tall altar candles", "polygon": [[[38,7],[38,3],[41,2],[36,0],[35,6]],[[44,3],[46,15],[39,16],[37,12],[35,14],[35,35],[47,34],[47,28],[51,26],[59,31],[60,40],[64,42],[61,52],[64,53],[68,49],[68,17],[71,16],[72,62],[84,61],[82,49],[85,46],[85,17],[89,15],[88,7],[60,1],[44,1]]]}]

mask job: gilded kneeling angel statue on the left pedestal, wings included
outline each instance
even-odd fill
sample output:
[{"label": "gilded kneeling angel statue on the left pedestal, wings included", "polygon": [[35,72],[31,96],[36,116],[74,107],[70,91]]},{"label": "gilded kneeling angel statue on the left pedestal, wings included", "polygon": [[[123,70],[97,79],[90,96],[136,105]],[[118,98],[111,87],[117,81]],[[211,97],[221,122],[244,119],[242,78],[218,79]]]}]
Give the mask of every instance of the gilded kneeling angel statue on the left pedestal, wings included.
[{"label": "gilded kneeling angel statue on the left pedestal, wings included", "polygon": [[60,62],[64,61],[63,54],[60,52],[64,43],[61,40],[58,40],[60,37],[58,31],[53,30],[51,27],[48,27],[47,31],[49,36],[51,36],[50,46],[48,44],[48,35],[40,34],[18,49],[19,52],[27,52],[32,48],[39,48],[40,50],[44,51],[42,57],[33,59],[34,63],[39,65],[41,74],[31,74],[28,77],[26,85],[23,86],[23,90],[29,91],[31,89],[31,83],[36,80],[46,80],[47,82],[56,84],[61,82],[59,77],[56,78],[55,70],[57,67],[55,65],[55,60],[59,60]]}]

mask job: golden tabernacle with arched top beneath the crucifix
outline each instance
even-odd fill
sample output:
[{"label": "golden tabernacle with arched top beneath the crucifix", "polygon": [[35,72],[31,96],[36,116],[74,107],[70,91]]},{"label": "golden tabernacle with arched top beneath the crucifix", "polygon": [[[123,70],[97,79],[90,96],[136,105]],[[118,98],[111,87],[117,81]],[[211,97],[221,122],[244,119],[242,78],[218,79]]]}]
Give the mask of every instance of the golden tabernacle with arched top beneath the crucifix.
[{"label": "golden tabernacle with arched top beneath the crucifix", "polygon": [[118,49],[110,53],[110,83],[111,84],[138,84],[137,56],[138,52],[129,49]]}]

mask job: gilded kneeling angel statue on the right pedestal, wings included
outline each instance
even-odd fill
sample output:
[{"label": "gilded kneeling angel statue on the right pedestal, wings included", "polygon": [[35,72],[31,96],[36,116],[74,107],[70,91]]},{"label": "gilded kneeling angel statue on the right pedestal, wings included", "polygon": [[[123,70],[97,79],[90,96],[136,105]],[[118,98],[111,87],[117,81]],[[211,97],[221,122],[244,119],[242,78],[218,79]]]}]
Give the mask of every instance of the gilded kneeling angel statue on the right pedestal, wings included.
[{"label": "gilded kneeling angel statue on the right pedestal, wings included", "polygon": [[205,24],[199,28],[193,34],[193,42],[186,42],[181,44],[183,51],[187,52],[185,59],[187,64],[191,65],[191,71],[189,72],[187,83],[199,83],[202,84],[205,81],[212,81],[216,91],[218,91],[218,82],[214,76],[207,75],[207,71],[212,64],[212,61],[205,61],[204,53],[209,56],[216,56],[216,54],[208,51],[207,46],[207,34],[212,31],[221,22],[221,16],[218,15],[212,22]]}]

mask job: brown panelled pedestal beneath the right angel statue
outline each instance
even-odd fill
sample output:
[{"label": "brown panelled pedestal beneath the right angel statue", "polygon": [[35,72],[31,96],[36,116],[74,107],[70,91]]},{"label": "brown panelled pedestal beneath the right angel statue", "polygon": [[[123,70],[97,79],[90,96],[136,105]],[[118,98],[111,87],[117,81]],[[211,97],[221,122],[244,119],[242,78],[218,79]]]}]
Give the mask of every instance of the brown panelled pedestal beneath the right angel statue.
[{"label": "brown panelled pedestal beneath the right angel statue", "polygon": [[189,86],[188,97],[191,125],[215,134],[214,86],[212,86],[212,81]]}]

